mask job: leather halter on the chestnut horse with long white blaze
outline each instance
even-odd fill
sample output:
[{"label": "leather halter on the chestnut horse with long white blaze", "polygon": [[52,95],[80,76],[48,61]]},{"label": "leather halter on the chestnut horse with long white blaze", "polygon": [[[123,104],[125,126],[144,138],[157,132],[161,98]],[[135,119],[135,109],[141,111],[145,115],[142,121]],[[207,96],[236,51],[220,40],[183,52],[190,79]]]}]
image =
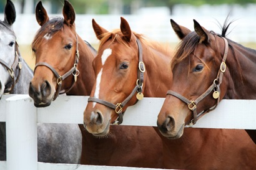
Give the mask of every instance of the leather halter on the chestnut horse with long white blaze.
[{"label": "leather halter on the chestnut horse with long white blaze", "polygon": [[142,61],[142,46],[141,46],[140,40],[136,39],[136,42],[139,50],[139,68],[138,68],[138,75],[137,75],[138,79],[130,95],[122,103],[117,103],[116,105],[114,105],[113,103],[107,102],[105,100],[101,100],[99,98],[95,98],[95,97],[88,98],[88,102],[100,103],[116,111],[117,115],[119,116],[117,117],[117,120],[113,124],[120,125],[122,123],[123,116],[124,116],[124,112],[122,112],[122,108],[130,101],[130,99],[135,95],[136,92],[138,93],[142,92],[145,65],[144,65],[144,62]]}]

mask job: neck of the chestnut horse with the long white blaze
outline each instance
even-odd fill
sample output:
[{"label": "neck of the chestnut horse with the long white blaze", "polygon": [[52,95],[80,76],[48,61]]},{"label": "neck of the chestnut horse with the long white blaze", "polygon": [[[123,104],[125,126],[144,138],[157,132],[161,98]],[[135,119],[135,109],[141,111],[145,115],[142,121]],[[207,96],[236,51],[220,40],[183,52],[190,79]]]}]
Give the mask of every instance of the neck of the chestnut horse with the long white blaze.
[{"label": "neck of the chestnut horse with the long white blaze", "polygon": [[142,54],[145,64],[144,96],[165,97],[172,83],[172,52],[160,52],[152,47],[144,47]]}]

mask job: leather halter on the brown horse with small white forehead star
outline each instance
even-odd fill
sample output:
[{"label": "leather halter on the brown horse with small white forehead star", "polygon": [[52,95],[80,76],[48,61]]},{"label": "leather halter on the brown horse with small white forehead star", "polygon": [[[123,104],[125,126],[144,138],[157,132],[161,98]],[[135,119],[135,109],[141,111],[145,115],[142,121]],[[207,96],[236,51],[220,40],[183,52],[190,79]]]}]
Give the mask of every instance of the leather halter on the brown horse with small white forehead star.
[{"label": "leather halter on the brown horse with small white forehead star", "polygon": [[[77,76],[79,75],[79,70],[77,70],[77,64],[79,62],[79,50],[78,50],[78,39],[77,39],[77,35],[76,35],[76,57],[74,60],[74,66],[66,73],[64,73],[64,75],[59,75],[59,73],[57,73],[57,71],[49,64],[47,64],[46,62],[39,62],[36,64],[35,68],[34,68],[34,72],[36,71],[36,68],[38,66],[46,66],[48,67],[52,73],[54,73],[55,77],[56,77],[56,81],[57,81],[57,90],[55,92],[54,98],[52,100],[56,100],[57,96],[59,94],[63,94],[63,93],[67,93],[69,92],[69,90],[71,90],[72,87],[74,87],[74,83],[77,80]],[[71,85],[71,87],[68,90],[63,90],[63,92],[61,92],[61,85],[62,85],[62,81],[69,77],[69,75],[73,75],[74,76],[74,81]]]}]

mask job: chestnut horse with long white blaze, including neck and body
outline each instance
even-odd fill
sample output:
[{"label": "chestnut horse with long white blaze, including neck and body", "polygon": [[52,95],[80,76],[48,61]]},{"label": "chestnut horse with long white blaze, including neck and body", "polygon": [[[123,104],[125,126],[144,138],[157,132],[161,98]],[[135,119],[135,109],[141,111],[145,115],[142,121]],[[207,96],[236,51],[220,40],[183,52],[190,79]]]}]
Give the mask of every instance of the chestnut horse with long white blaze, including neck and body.
[{"label": "chestnut horse with long white blaze, including neck and body", "polygon": [[[97,78],[92,89],[91,98],[89,98],[89,103],[84,111],[84,124],[92,134],[103,136],[109,131],[112,132],[112,130],[109,130],[109,123],[115,123],[116,119],[121,121],[121,118],[117,118],[116,111],[118,112],[122,108],[122,111],[119,111],[120,116],[128,106],[137,102],[137,93],[144,93],[145,97],[165,97],[167,89],[172,83],[172,73],[169,70],[172,52],[162,49],[159,45],[154,46],[144,40],[141,35],[130,31],[129,24],[123,18],[121,18],[121,31],[107,32],[95,21],[93,21],[93,27],[97,37],[101,40],[101,44],[98,55],[93,62]],[[189,32],[188,29],[187,31]],[[140,40],[141,45],[138,45],[140,42],[137,43],[137,39]],[[141,58],[139,57],[140,55],[142,55]],[[142,64],[144,68],[139,65],[140,62],[144,62]],[[145,70],[143,76],[140,70]],[[138,74],[139,77],[137,77]],[[136,89],[140,80],[143,80],[144,84],[141,87],[142,90],[139,92],[135,90],[134,94],[134,89]],[[130,100],[127,100],[127,98]],[[113,106],[114,104],[111,105],[111,103],[121,102],[121,105],[117,105],[117,109],[116,106]],[[127,105],[125,105],[126,103]],[[152,131],[150,127],[141,128],[142,133],[149,133],[149,131]],[[159,130],[157,132],[159,133]],[[227,135],[228,140],[221,141],[218,134]],[[186,128],[182,138],[170,140],[159,133],[163,144],[164,168],[214,168],[218,162],[215,163],[217,161],[215,159],[211,166],[212,154],[209,153],[215,150],[218,151],[218,149],[212,146],[212,143],[216,144],[216,146],[222,144],[225,149],[230,151],[230,148],[234,146],[234,141],[241,140],[239,136],[234,136],[234,134],[239,134],[242,137],[244,137],[243,135],[247,136],[246,133],[241,134],[240,131],[231,131],[229,133],[227,130]],[[157,136],[154,138],[157,139]],[[217,153],[219,154],[219,152]],[[229,157],[229,153],[218,155],[220,163],[221,159]],[[231,153],[236,156],[240,154],[237,149]],[[197,158],[201,159],[197,161]],[[231,163],[231,158],[233,159],[234,157],[230,156],[230,159],[225,159],[227,163]]]}]

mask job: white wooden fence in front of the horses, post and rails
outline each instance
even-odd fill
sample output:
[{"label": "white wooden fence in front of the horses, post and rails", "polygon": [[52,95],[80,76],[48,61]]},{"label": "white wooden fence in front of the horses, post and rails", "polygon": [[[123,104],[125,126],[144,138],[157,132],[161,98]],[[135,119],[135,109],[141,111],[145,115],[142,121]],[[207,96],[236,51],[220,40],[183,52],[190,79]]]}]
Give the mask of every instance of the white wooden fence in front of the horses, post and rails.
[{"label": "white wooden fence in front of the horses, post and rails", "polygon": [[[51,106],[36,108],[28,95],[4,95],[0,100],[0,121],[6,121],[7,161],[0,161],[0,169],[149,169],[37,163],[37,123],[82,124],[87,98],[60,96]],[[164,98],[144,98],[127,109],[122,125],[156,126],[163,102]],[[222,100],[214,111],[203,116],[193,127],[256,130],[255,106],[256,100]]]}]

